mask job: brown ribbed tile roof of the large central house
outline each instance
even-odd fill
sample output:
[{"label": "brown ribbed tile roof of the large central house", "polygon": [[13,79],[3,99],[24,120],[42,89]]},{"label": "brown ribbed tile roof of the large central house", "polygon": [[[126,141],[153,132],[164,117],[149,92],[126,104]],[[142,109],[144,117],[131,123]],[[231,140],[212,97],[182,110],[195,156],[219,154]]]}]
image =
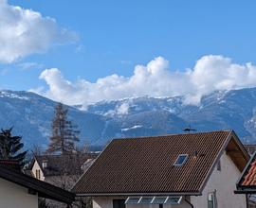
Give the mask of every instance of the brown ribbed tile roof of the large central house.
[{"label": "brown ribbed tile roof of the large central house", "polygon": [[[234,135],[221,130],[113,140],[73,191],[92,196],[199,194],[222,149],[231,137],[236,138]],[[189,158],[185,165],[174,166],[179,154],[188,154]]]}]

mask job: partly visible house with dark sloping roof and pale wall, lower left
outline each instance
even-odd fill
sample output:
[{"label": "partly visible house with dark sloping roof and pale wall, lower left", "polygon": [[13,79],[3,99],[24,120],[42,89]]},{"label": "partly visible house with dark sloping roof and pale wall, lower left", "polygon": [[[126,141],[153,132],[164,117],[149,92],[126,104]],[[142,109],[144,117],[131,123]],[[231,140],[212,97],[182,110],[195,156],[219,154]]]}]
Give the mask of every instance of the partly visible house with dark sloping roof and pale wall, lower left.
[{"label": "partly visible house with dark sloping roof and pale wall, lower left", "polygon": [[71,204],[75,195],[22,173],[12,161],[0,163],[0,207],[37,208],[38,199],[54,199]]}]

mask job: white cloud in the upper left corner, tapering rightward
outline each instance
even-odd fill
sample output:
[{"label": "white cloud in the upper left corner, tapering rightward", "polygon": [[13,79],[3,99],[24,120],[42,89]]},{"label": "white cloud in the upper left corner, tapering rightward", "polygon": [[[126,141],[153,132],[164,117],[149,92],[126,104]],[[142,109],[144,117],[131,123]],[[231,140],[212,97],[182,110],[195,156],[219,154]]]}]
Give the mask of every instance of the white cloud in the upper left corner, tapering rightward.
[{"label": "white cloud in the upper left corner, tapering rightward", "polygon": [[74,42],[75,32],[50,17],[0,0],[0,61],[12,62],[33,53],[45,52],[52,44]]}]

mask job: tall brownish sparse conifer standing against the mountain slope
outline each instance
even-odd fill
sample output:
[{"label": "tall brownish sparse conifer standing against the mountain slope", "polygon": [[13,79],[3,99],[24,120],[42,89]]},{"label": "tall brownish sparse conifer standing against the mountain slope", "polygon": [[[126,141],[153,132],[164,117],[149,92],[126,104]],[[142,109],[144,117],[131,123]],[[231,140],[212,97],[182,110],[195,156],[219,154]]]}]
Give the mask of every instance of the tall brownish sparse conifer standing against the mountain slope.
[{"label": "tall brownish sparse conifer standing against the mountain slope", "polygon": [[56,106],[47,153],[61,152],[62,154],[68,154],[75,151],[75,143],[79,142],[80,130],[77,130],[77,126],[67,119],[67,113],[68,109],[64,108],[62,103]]}]

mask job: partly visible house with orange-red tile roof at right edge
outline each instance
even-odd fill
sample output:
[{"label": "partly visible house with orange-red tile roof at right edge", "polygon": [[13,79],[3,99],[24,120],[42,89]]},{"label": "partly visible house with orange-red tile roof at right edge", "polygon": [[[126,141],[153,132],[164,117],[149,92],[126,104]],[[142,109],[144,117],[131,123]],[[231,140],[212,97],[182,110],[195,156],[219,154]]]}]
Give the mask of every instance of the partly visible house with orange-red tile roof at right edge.
[{"label": "partly visible house with orange-red tile roof at right edge", "polygon": [[247,207],[256,207],[256,152],[251,156],[245,170],[237,182],[236,194],[247,196]]}]

